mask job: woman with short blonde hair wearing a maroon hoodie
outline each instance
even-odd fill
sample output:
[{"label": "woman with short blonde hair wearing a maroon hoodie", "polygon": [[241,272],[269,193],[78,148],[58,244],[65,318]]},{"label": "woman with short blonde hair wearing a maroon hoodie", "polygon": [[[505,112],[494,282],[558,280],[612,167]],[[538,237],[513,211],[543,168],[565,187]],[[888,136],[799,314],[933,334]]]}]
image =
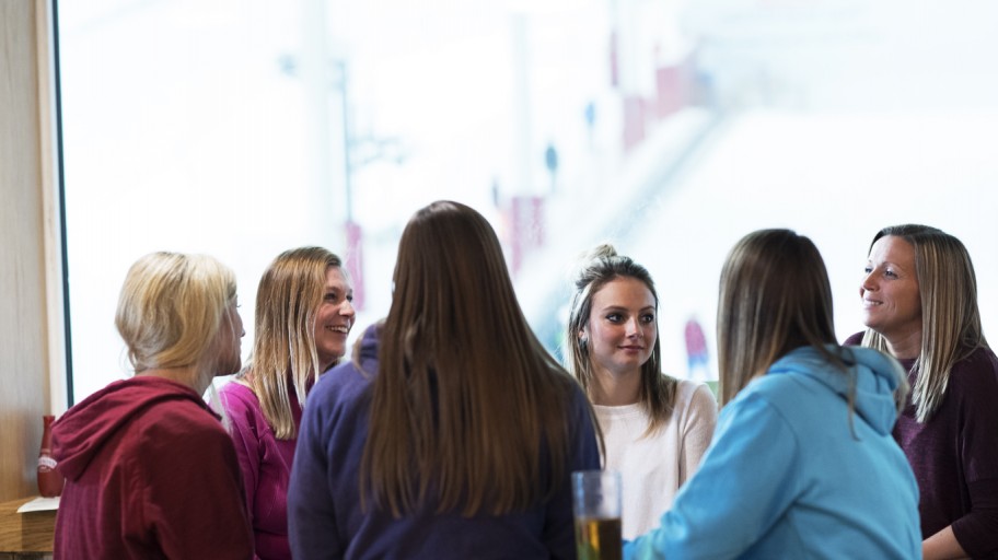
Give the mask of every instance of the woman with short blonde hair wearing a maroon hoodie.
[{"label": "woman with short blonde hair wearing a maroon hoodie", "polygon": [[241,365],[234,275],[211,257],[147,255],[115,325],[136,375],[53,427],[67,478],[56,558],[252,558],[232,440],[201,398]]}]

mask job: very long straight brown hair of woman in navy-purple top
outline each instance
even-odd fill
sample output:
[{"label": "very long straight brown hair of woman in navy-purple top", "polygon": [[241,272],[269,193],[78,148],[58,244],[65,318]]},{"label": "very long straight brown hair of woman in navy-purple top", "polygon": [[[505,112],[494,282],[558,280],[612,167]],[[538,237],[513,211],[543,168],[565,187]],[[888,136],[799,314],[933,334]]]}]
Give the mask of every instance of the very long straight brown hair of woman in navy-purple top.
[{"label": "very long straight brown hair of woman in navy-purple top", "polygon": [[491,226],[457,202],[419,210],[394,282],[361,495],[396,516],[546,500],[568,476],[575,382],[527,326]]}]

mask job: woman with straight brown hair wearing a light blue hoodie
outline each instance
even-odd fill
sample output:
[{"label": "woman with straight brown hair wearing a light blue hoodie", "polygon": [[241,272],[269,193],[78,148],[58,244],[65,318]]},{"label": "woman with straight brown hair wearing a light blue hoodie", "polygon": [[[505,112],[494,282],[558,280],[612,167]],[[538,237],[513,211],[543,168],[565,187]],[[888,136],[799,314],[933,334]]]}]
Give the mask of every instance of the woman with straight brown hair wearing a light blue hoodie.
[{"label": "woman with straight brown hair wearing a light blue hoodie", "polygon": [[835,343],[811,240],[763,230],[734,246],[718,354],[713,443],[625,557],[918,558],[918,488],[891,436],[904,372],[881,352]]}]

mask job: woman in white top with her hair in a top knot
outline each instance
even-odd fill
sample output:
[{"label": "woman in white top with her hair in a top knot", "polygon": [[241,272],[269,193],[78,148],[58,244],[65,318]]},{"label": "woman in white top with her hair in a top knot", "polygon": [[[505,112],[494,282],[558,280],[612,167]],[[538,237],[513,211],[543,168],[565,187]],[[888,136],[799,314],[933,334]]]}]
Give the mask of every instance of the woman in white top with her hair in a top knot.
[{"label": "woman in white top with her hair in a top knot", "polygon": [[600,245],[575,279],[567,368],[594,405],[605,468],[624,486],[624,538],[658,526],[710,445],[717,400],[701,383],[660,370],[654,282],[641,265]]}]

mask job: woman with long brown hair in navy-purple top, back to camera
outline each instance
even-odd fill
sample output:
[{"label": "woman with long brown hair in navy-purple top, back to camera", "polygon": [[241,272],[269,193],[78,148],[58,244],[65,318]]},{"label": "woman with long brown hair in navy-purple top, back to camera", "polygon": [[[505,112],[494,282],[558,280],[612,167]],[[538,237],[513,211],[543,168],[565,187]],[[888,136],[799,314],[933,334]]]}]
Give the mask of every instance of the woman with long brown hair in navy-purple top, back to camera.
[{"label": "woman with long brown hair in navy-purple top, back to camera", "polygon": [[575,558],[569,475],[600,467],[585,396],[531,331],[499,240],[438,201],[398,245],[384,323],[309,397],[297,558]]}]

